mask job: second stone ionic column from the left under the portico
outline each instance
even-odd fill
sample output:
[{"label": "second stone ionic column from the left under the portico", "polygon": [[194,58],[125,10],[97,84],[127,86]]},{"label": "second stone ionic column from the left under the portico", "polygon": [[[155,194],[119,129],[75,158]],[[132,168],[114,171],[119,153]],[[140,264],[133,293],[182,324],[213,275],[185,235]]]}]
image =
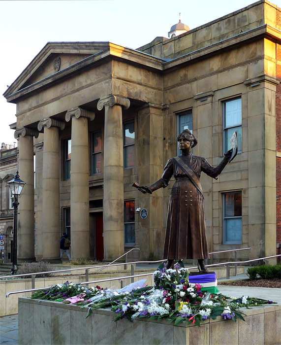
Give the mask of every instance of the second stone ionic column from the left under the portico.
[{"label": "second stone ionic column from the left under the portico", "polygon": [[65,124],[48,118],[38,123],[44,130],[42,174],[42,260],[60,258],[60,140],[59,129]]}]

